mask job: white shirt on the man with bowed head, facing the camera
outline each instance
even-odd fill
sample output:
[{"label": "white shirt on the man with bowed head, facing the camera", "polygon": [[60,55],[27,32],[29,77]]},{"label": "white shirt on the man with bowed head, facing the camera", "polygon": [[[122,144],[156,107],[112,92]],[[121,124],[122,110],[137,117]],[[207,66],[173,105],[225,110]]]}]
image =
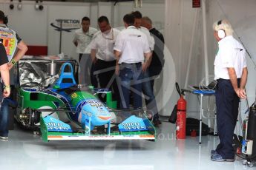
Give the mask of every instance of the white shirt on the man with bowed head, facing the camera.
[{"label": "white shirt on the man with bowed head, facing the camera", "polygon": [[108,33],[99,31],[93,36],[90,47],[91,49],[96,50],[96,58],[103,61],[116,60],[113,48],[119,33],[119,30],[111,28]]}]

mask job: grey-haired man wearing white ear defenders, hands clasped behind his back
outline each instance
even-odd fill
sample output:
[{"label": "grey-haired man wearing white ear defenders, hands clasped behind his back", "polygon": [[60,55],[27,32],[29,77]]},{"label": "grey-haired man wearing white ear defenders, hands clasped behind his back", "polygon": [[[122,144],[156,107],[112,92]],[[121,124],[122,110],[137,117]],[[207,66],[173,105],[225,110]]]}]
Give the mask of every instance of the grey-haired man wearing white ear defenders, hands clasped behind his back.
[{"label": "grey-haired man wearing white ear defenders, hands clasped behind his back", "polygon": [[234,39],[229,21],[214,22],[213,30],[219,47],[214,61],[214,79],[217,80],[215,97],[220,143],[211,150],[211,160],[233,162],[232,143],[239,101],[246,98],[246,50]]}]

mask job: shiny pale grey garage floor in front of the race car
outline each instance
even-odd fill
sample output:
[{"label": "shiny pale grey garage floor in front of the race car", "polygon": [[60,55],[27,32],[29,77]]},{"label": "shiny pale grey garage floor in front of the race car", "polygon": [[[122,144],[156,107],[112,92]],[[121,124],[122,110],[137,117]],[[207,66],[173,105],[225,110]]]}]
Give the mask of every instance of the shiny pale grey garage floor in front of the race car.
[{"label": "shiny pale grey garage floor in front of the race car", "polygon": [[218,137],[204,136],[175,140],[174,124],[163,123],[157,142],[151,141],[51,141],[16,128],[8,141],[0,141],[0,169],[36,170],[161,170],[161,169],[254,169],[234,163],[210,160]]}]

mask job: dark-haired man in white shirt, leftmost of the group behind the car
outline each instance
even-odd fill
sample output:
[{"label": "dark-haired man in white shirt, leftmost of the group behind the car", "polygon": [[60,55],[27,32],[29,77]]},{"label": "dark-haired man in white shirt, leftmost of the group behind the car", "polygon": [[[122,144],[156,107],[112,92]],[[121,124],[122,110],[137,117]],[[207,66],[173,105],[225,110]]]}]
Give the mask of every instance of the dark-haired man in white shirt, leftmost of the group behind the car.
[{"label": "dark-haired man in white shirt, leftmost of the group behind the car", "polygon": [[[93,35],[97,32],[96,28],[90,27],[90,18],[82,18],[82,27],[75,31],[73,44],[76,46],[76,52],[79,54],[79,84],[97,84],[90,58],[90,48]],[[90,80],[91,79],[91,80]]]}]

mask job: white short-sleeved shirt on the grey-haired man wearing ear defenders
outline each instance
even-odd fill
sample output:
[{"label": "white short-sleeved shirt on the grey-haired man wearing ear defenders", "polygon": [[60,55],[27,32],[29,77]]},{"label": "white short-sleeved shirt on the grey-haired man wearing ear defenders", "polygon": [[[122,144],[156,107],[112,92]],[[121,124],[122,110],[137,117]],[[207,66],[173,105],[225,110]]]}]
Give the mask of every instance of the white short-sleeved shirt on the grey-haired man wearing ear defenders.
[{"label": "white short-sleeved shirt on the grey-haired man wearing ear defenders", "polygon": [[246,50],[232,35],[226,36],[218,42],[219,51],[214,61],[214,79],[229,80],[228,67],[235,69],[237,78],[241,78],[246,66]]}]

